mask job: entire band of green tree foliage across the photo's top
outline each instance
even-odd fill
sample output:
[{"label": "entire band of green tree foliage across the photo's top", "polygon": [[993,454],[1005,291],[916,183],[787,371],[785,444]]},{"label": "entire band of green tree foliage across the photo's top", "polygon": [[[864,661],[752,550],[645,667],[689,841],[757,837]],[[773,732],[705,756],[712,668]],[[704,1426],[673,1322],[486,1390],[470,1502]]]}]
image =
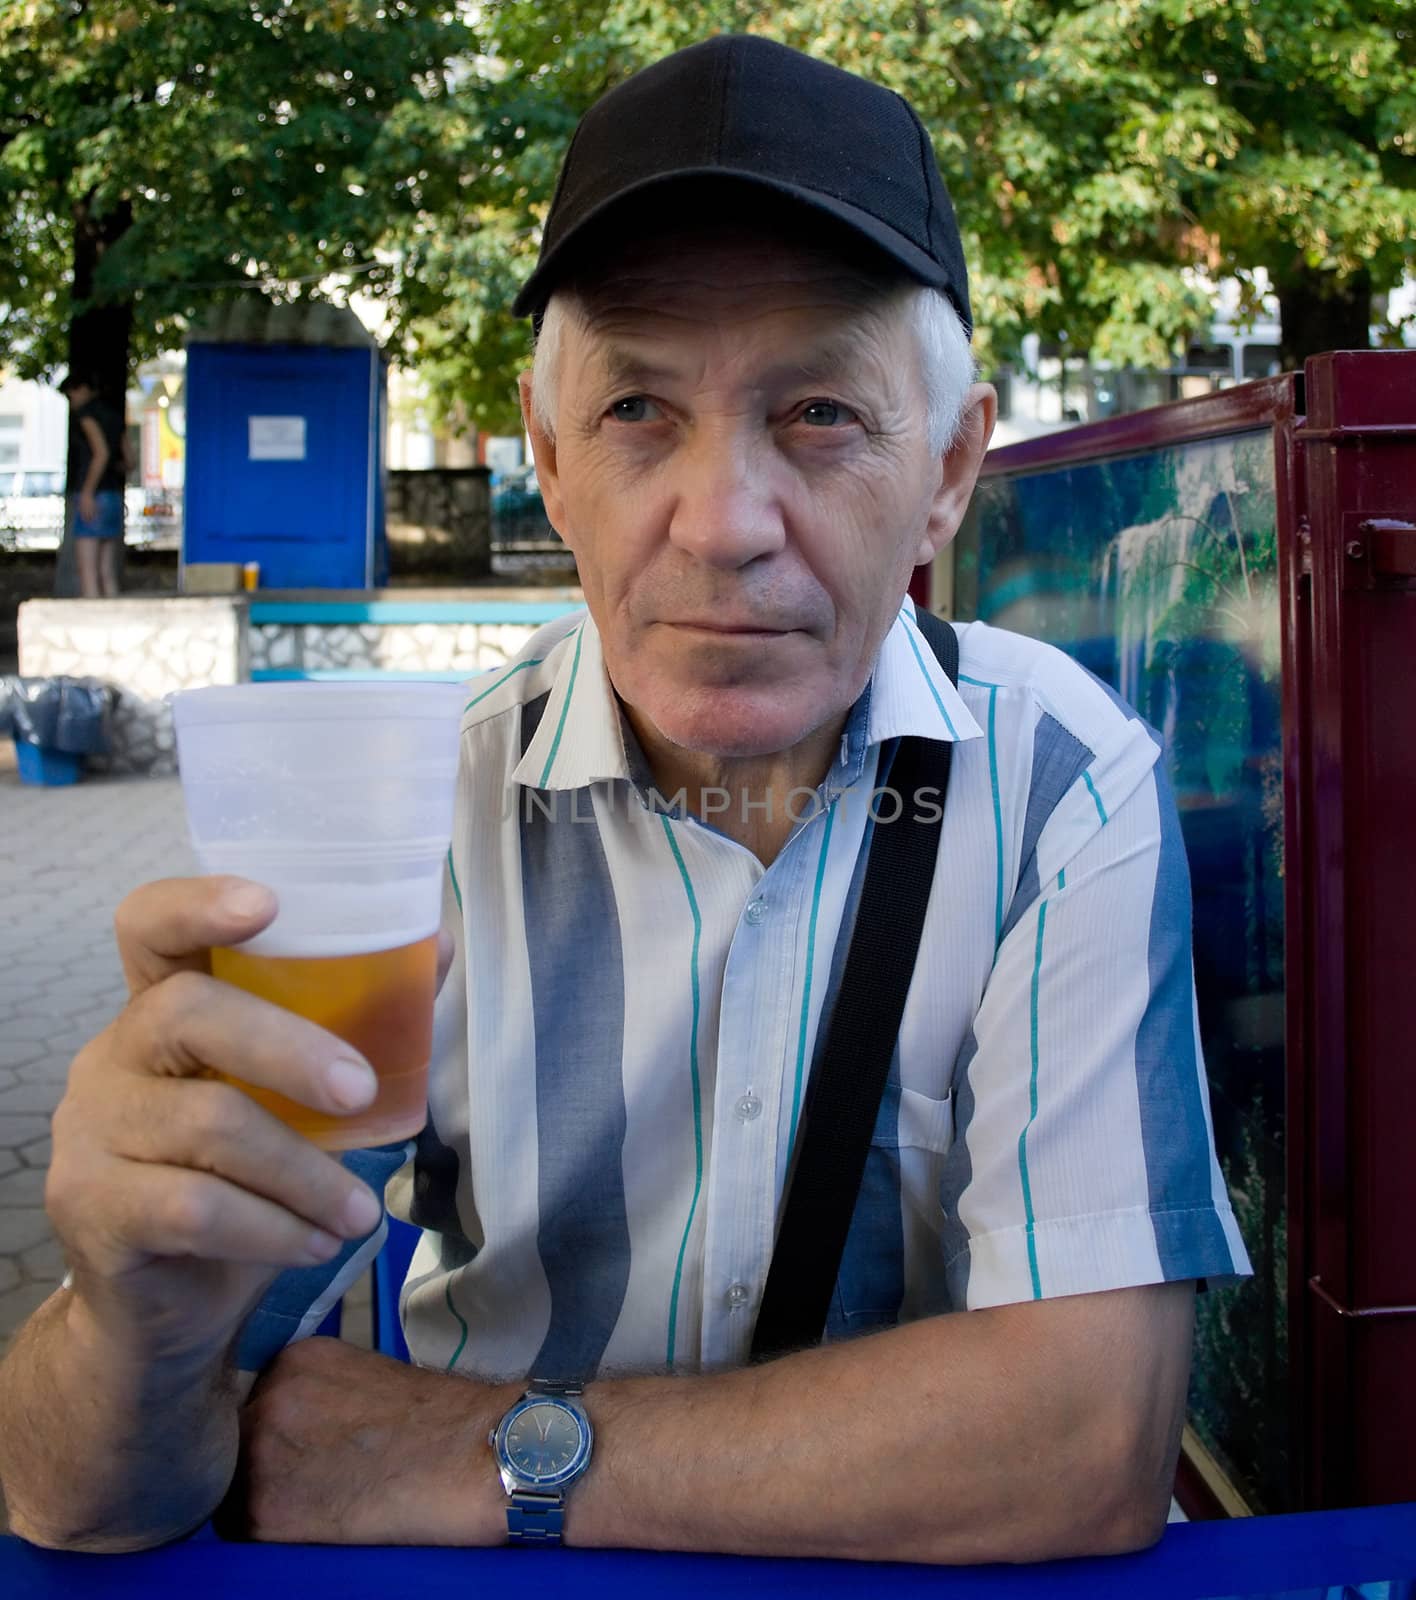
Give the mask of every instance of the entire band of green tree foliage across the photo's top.
[{"label": "entire band of green tree foliage across the photo's top", "polygon": [[61,363],[75,285],[149,350],[232,278],[374,262],[435,405],[512,427],[507,304],[578,117],[725,30],[920,110],[986,363],[1040,333],[1163,365],[1210,317],[1194,267],[1251,306],[1264,269],[1296,360],[1416,266],[1416,0],[10,0],[0,358]]}]

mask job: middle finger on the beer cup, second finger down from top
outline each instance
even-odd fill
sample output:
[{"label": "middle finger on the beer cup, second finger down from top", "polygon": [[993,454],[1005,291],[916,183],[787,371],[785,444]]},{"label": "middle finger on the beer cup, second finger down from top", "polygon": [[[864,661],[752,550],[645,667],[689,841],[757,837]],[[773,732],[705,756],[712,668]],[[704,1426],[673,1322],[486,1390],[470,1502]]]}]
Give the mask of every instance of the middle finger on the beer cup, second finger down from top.
[{"label": "middle finger on the beer cup, second finger down from top", "polygon": [[333,1115],[363,1110],[378,1091],[373,1067],[354,1045],[205,973],[174,973],[146,989],[112,1024],[104,1050],[106,1037],[80,1053],[75,1070],[115,1066],[170,1078],[221,1072]]}]

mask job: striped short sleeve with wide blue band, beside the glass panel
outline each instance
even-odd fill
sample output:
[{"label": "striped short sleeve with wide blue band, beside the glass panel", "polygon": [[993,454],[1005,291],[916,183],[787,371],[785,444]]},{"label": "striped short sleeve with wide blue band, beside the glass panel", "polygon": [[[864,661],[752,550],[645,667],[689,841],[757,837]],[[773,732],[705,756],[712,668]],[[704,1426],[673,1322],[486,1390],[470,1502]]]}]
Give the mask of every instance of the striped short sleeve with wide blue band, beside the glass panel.
[{"label": "striped short sleeve with wide blue band, beside the glass panel", "polygon": [[1251,1270],[1214,1155],[1170,786],[1152,762],[1115,811],[1106,789],[1083,771],[1043,829],[955,1067],[955,1309]]}]

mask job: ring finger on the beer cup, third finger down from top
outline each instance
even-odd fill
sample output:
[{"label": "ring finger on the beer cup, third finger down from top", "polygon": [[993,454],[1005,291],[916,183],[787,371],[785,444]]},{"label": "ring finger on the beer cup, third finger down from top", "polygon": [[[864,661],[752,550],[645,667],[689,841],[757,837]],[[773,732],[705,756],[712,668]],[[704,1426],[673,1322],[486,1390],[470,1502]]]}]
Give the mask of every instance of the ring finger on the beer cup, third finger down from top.
[{"label": "ring finger on the beer cup, third finger down from top", "polygon": [[379,1226],[378,1195],[230,1083],[120,1085],[107,1147],[130,1162],[224,1178],[339,1238]]}]

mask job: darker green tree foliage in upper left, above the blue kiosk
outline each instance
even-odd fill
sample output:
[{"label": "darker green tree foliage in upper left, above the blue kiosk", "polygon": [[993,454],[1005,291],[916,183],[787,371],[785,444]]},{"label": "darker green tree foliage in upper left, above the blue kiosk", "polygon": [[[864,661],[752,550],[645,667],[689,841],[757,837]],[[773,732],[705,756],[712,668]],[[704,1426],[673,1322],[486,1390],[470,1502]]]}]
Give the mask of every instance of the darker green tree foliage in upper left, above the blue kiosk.
[{"label": "darker green tree foliage in upper left, above the blue kiosk", "polygon": [[[0,5],[0,360],[120,389],[256,282],[378,293],[422,205],[406,126],[469,34],[443,0]],[[294,280],[306,280],[304,285]],[[131,328],[131,346],[130,346]]]}]

